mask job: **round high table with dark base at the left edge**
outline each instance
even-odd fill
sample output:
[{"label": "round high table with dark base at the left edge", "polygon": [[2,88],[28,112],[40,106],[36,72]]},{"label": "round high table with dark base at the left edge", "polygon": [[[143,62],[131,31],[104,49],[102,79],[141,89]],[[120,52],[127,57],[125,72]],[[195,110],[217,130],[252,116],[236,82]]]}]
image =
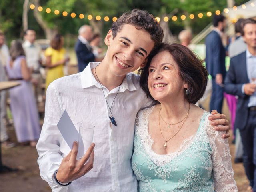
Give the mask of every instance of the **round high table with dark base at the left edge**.
[{"label": "round high table with dark base at the left edge", "polygon": [[[20,82],[18,82],[18,81],[1,81],[0,82],[0,91],[10,89],[10,88],[16,87],[18,85],[20,85]],[[0,98],[1,98],[1,95],[0,95]],[[1,119],[0,119],[0,121],[1,121]],[[1,127],[0,127],[0,129],[1,129]],[[16,171],[17,169],[12,169],[12,168],[2,164],[2,155],[1,154],[2,153],[1,153],[1,145],[0,145],[0,173]]]}]

